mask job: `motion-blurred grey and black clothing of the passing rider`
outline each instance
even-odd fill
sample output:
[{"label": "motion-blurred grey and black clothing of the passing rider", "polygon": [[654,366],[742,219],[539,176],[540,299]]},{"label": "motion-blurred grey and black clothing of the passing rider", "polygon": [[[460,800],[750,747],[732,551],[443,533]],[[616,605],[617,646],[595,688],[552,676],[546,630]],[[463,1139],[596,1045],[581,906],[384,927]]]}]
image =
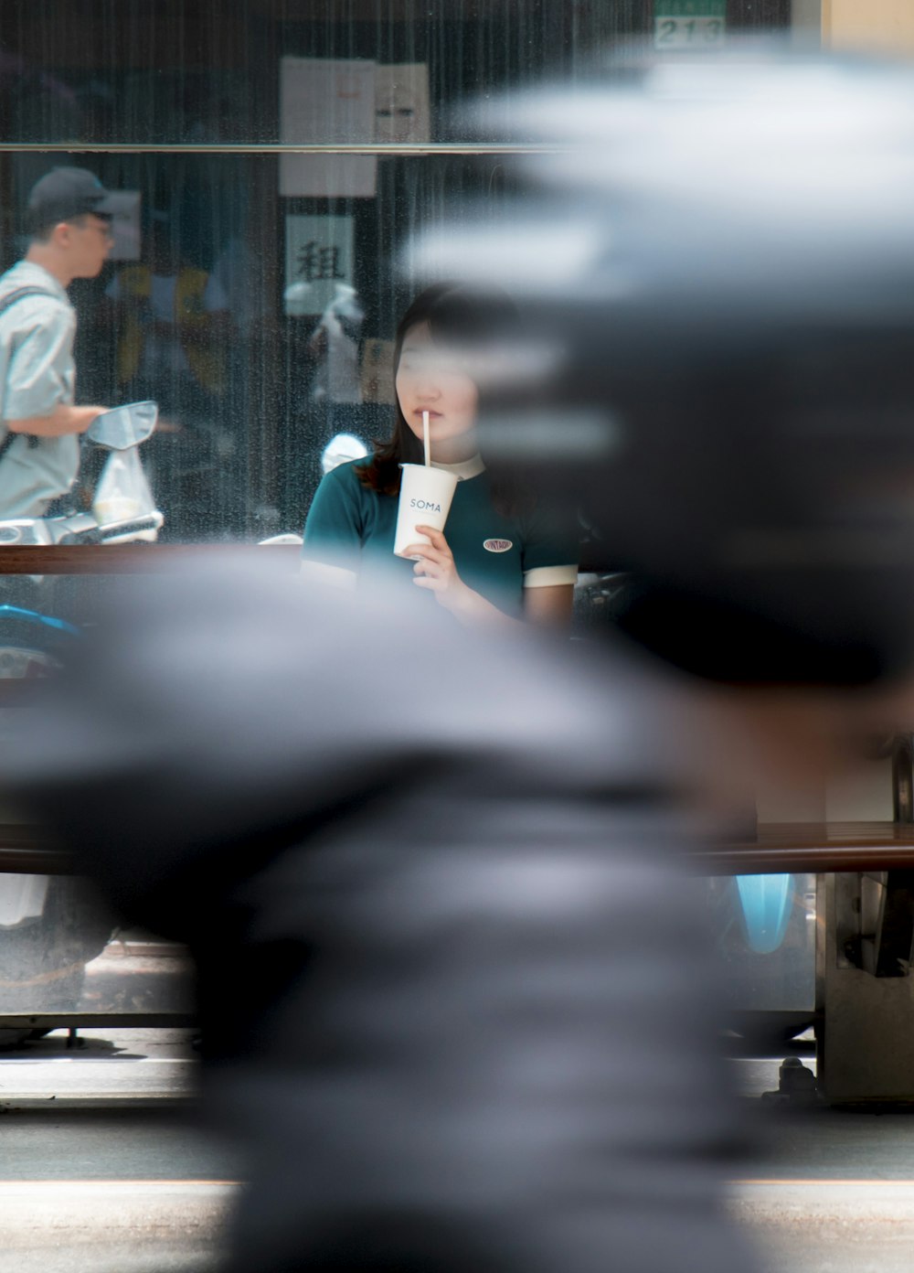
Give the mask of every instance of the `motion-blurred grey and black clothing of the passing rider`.
[{"label": "motion-blurred grey and black clothing of the passing rider", "polygon": [[13,759],[195,951],[233,1273],[751,1268],[663,686],[397,605],[146,578]]}]

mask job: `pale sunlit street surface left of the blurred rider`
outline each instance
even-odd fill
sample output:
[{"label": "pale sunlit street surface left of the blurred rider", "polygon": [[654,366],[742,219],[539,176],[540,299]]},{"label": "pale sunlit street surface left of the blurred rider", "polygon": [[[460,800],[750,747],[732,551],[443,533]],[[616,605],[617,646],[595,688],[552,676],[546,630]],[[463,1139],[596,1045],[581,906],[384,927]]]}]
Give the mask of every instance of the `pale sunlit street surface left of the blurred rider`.
[{"label": "pale sunlit street surface left of the blurred rider", "polygon": [[241,1171],[197,1116],[191,1036],[0,1053],[0,1273],[213,1273]]}]

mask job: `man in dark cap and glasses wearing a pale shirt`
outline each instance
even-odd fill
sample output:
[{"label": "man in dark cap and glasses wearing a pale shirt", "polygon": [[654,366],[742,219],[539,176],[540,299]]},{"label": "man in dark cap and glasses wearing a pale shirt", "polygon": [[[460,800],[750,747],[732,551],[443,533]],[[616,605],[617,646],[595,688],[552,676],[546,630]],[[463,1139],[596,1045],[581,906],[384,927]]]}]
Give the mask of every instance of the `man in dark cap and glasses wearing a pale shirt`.
[{"label": "man in dark cap and glasses wearing a pale shirt", "polygon": [[104,410],[74,406],[66,288],[102,270],[112,211],[109,191],[84,168],[55,168],[29,193],[28,251],[0,276],[0,518],[42,517],[70,490],[78,435]]}]

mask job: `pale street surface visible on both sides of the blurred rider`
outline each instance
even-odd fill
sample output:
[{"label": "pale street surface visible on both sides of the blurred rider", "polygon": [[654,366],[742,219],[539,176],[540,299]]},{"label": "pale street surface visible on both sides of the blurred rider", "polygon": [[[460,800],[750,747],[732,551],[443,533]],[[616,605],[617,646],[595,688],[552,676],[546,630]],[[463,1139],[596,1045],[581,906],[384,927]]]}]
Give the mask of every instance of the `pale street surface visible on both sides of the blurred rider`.
[{"label": "pale street surface visible on both sides of the blurred rider", "polygon": [[[199,1118],[190,1039],[104,1030],[66,1050],[59,1031],[0,1053],[0,1273],[214,1273],[242,1170]],[[729,1207],[765,1268],[910,1273],[914,1113],[784,1111],[757,1100],[777,1060],[732,1068],[757,1150]]]}]

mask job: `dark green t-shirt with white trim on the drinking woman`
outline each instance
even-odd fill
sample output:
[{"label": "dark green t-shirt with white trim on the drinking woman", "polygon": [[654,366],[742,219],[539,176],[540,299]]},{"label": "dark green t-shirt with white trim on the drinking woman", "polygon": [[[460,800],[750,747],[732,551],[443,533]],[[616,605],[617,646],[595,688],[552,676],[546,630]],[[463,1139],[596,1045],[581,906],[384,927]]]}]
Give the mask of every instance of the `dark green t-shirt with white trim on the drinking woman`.
[{"label": "dark green t-shirt with white trim on the drinking woman", "polygon": [[[397,499],[362,485],[356,468],[364,463],[340,465],[321,481],[304,523],[303,556],[360,577],[377,565],[411,583],[414,563],[393,555]],[[574,583],[574,533],[558,530],[555,519],[542,510],[517,517],[499,513],[481,462],[452,467],[475,474],[458,480],[444,526],[457,573],[467,587],[499,610],[518,615],[524,587]]]}]

